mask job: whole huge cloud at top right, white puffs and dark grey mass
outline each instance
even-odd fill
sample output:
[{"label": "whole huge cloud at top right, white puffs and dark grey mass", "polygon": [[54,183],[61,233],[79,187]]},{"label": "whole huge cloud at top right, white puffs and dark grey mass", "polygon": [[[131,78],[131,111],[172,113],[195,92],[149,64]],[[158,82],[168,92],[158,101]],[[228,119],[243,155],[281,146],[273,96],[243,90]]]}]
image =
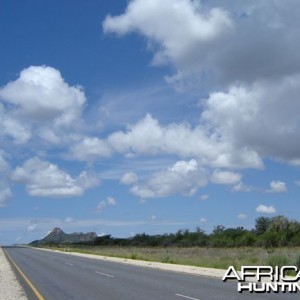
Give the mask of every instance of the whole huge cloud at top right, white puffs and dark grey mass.
[{"label": "whole huge cloud at top right, white puffs and dark grey mass", "polygon": [[154,52],[153,64],[176,67],[177,73],[168,77],[176,85],[195,78],[202,87],[207,82],[250,83],[299,71],[298,4],[133,0],[124,14],[107,16],[103,29],[146,37]]}]

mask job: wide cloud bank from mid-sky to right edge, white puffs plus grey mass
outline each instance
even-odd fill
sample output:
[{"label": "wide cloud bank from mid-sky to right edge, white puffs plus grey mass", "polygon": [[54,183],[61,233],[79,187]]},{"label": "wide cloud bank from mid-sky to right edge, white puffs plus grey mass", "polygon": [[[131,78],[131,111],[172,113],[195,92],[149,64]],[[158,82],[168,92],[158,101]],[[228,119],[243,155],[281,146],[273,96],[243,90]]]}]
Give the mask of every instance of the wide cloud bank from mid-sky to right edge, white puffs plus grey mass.
[{"label": "wide cloud bank from mid-sky to right edge, white puffs plus grey mass", "polygon": [[213,92],[202,102],[200,124],[194,128],[161,125],[148,114],[127,131],[109,135],[105,144],[117,153],[197,157],[201,164],[219,168],[263,168],[266,157],[296,164],[299,79],[293,75]]}]

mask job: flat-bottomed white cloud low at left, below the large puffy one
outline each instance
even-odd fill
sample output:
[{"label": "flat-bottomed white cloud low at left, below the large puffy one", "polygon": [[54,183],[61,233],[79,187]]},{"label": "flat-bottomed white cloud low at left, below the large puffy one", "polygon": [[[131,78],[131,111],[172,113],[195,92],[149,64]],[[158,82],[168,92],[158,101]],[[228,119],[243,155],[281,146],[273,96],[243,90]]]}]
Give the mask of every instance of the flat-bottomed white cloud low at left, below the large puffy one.
[{"label": "flat-bottomed white cloud low at left, below the large puffy one", "polygon": [[93,173],[82,172],[73,178],[57,165],[37,157],[17,167],[11,178],[25,184],[29,195],[40,197],[80,196],[86,189],[99,184],[99,179]]}]

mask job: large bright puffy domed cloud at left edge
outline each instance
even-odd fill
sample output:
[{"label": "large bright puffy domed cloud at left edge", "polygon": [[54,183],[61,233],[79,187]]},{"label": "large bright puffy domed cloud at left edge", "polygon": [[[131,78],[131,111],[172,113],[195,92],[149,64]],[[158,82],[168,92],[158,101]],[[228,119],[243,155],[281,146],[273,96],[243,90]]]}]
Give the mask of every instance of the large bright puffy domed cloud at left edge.
[{"label": "large bright puffy domed cloud at left edge", "polygon": [[0,98],[28,118],[68,125],[85,102],[80,87],[68,86],[58,70],[47,66],[24,69],[17,80],[0,89]]}]

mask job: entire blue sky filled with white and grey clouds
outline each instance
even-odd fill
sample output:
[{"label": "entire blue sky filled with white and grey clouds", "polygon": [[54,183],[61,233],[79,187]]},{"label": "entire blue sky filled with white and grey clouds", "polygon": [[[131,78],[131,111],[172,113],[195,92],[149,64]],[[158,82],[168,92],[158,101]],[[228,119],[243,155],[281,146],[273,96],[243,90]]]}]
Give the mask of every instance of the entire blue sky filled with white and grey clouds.
[{"label": "entire blue sky filled with white and grey clouds", "polygon": [[300,212],[298,0],[2,0],[0,244]]}]

